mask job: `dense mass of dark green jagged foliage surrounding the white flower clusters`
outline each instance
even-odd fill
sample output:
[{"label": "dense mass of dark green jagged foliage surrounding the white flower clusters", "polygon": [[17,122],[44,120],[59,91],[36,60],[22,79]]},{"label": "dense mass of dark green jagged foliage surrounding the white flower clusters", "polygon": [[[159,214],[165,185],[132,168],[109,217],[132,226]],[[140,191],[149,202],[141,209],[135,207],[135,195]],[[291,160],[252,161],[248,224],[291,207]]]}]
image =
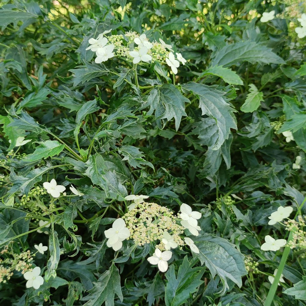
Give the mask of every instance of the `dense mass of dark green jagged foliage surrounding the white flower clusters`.
[{"label": "dense mass of dark green jagged foliage surrounding the white flower clusters", "polygon": [[[267,234],[288,234],[267,217],[301,205],[306,169],[305,40],[294,32],[296,18],[259,21],[272,9],[282,14],[285,5],[2,2],[0,243],[13,239],[16,253],[49,246],[35,257],[44,285],[26,289],[16,272],[1,284],[2,304],[263,304],[282,253],[260,245]],[[171,43],[189,60],[176,84],[164,65],[140,66],[137,88],[123,60],[93,62],[88,39],[110,28]],[[20,136],[32,141],[16,153]],[[297,155],[302,166],[293,170]],[[20,204],[51,178],[85,196],[53,211],[48,195],[34,201],[36,210]],[[103,232],[131,193],[175,212],[182,202],[201,210],[200,254],[177,251],[166,274],[147,262],[148,247],[125,244],[114,259]],[[232,194],[242,200],[229,207],[223,199]],[[37,233],[38,220],[50,219],[49,235]],[[247,275],[246,255],[264,274]],[[305,305],[305,271],[304,257],[291,253],[275,305]]]}]

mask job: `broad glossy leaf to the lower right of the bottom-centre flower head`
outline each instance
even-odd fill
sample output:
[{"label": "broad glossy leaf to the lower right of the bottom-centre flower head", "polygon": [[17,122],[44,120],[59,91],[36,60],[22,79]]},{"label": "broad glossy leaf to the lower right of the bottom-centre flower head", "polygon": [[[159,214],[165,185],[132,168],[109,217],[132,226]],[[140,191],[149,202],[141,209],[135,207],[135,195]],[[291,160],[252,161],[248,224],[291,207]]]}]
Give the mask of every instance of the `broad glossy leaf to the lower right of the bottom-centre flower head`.
[{"label": "broad glossy leaf to the lower right of the bottom-centre flower head", "polygon": [[234,244],[208,234],[192,237],[192,239],[200,250],[199,254],[193,253],[193,256],[199,258],[202,265],[206,265],[212,277],[218,274],[226,288],[229,288],[227,279],[239,287],[242,286],[241,277],[247,274],[244,255],[235,249]]}]

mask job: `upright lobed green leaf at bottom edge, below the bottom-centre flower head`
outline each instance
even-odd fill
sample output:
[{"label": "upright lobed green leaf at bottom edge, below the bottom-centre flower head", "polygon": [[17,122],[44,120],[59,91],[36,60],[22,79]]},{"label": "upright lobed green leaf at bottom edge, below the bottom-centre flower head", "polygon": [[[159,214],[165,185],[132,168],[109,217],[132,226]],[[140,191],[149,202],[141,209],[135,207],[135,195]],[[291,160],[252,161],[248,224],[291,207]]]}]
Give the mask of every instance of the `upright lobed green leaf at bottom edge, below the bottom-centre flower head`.
[{"label": "upright lobed green leaf at bottom edge, below the bottom-centre flower head", "polygon": [[203,267],[194,267],[195,260],[188,261],[185,256],[182,264],[177,271],[177,277],[174,271],[174,265],[166,273],[167,285],[165,287],[166,306],[180,306],[187,303],[190,294],[196,292],[198,287],[203,284],[201,280],[205,271]]}]

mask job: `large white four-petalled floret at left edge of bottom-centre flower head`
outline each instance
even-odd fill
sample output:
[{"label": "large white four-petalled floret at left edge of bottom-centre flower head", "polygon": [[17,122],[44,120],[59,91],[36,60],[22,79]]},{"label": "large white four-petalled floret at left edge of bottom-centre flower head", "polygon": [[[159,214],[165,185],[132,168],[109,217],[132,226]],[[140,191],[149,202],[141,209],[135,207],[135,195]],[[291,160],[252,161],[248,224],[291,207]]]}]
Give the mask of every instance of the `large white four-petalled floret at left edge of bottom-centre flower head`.
[{"label": "large white four-petalled floret at left edge of bottom-centre flower head", "polygon": [[130,237],[130,230],[126,227],[122,218],[114,221],[112,228],[104,231],[105,237],[108,238],[106,245],[118,251],[122,247],[122,241]]}]

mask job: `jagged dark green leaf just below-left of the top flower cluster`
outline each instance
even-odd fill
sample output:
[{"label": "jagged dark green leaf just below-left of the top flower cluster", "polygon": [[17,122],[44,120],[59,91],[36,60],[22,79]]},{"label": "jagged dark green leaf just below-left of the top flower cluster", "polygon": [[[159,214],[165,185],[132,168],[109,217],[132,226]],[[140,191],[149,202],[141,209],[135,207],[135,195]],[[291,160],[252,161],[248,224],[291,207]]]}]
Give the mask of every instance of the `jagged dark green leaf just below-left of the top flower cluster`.
[{"label": "jagged dark green leaf just below-left of the top flower cluster", "polygon": [[95,62],[85,62],[84,66],[78,66],[76,69],[70,69],[73,75],[73,87],[78,84],[90,81],[91,79],[103,76],[109,73],[109,70],[103,64],[96,64]]}]

